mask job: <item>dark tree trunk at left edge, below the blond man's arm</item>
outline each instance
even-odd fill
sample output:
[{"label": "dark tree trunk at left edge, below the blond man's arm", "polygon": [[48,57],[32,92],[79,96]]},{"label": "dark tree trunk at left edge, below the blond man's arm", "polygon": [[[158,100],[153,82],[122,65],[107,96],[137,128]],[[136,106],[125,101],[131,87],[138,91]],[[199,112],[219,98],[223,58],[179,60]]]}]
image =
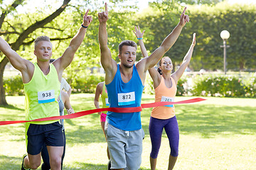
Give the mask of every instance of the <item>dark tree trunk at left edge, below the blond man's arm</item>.
[{"label": "dark tree trunk at left edge, below the blond man's arm", "polygon": [[8,62],[9,60],[6,57],[0,62],[0,106],[8,105],[4,91],[4,67]]}]

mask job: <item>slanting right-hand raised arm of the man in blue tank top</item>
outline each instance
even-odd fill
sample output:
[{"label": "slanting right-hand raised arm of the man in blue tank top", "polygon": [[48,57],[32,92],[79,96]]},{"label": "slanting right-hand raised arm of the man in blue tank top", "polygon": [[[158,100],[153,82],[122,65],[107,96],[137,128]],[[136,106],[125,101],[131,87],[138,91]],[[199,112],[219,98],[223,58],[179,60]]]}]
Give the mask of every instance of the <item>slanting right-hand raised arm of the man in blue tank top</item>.
[{"label": "slanting right-hand raised arm of the man in blue tank top", "polygon": [[178,36],[181,33],[183,26],[185,26],[186,23],[189,21],[189,17],[188,15],[185,15],[185,12],[186,12],[186,7],[181,13],[181,17],[178,25],[174,28],[174,30],[171,31],[169,35],[166,36],[166,38],[163,40],[161,45],[156,50],[154,50],[154,52],[149,56],[149,58],[146,59],[145,69],[154,67],[154,65],[157,62],[159,62],[161,57],[163,57],[163,55],[174,45],[174,43],[178,39]]}]

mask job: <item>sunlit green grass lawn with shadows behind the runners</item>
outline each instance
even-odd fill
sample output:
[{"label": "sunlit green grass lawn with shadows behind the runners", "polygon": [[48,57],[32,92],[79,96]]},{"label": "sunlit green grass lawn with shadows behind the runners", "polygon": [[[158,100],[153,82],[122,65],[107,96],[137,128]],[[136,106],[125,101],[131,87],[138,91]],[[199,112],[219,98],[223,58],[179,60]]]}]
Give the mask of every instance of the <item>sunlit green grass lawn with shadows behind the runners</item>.
[{"label": "sunlit green grass lawn with shadows behind the runners", "polygon": [[[72,94],[76,112],[94,109],[94,94]],[[144,95],[142,103],[154,102]],[[183,101],[193,97],[176,97]],[[213,98],[176,105],[180,130],[179,156],[174,169],[256,169],[256,99]],[[0,107],[0,120],[24,120],[23,96],[7,96],[8,107]],[[149,116],[142,111],[145,132],[141,169],[150,169]],[[107,143],[99,115],[65,120],[67,148],[63,169],[107,169]],[[20,169],[26,153],[24,125],[0,126],[0,170]],[[156,169],[167,169],[169,142],[163,134]],[[41,168],[39,168],[41,169]]]}]

